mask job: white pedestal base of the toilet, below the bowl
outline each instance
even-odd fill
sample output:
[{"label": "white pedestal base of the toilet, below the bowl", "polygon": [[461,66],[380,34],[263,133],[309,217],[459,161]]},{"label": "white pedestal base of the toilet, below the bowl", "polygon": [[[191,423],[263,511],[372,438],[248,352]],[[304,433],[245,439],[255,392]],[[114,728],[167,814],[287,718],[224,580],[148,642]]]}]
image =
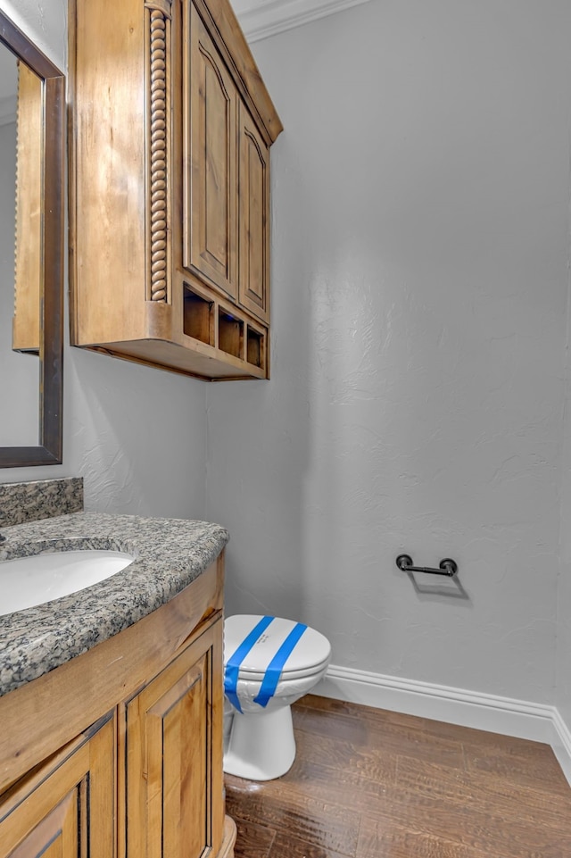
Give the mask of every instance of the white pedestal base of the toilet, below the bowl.
[{"label": "white pedestal base of the toilet, below the bowl", "polygon": [[273,780],[285,775],[294,759],[294,724],[289,706],[260,715],[235,712],[224,753],[227,774],[248,780]]}]

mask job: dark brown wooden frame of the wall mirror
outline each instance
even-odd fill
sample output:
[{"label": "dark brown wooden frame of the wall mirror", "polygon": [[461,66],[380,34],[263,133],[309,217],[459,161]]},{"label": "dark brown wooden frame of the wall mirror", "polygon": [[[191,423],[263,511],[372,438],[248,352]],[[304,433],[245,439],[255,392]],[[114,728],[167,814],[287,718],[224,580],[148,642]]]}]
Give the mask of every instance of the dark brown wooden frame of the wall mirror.
[{"label": "dark brown wooden frame of the wall mirror", "polygon": [[44,86],[39,444],[0,446],[0,468],[23,468],[62,462],[65,78],[2,11],[0,44],[25,62]]}]

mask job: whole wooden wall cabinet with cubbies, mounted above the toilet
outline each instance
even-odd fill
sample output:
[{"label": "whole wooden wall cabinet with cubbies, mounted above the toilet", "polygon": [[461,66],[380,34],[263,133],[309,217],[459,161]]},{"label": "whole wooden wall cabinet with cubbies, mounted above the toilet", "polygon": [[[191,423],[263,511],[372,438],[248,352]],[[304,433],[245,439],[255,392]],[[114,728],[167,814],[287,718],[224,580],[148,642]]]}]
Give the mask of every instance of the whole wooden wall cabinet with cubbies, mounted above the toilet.
[{"label": "whole wooden wall cabinet with cubbies, mounted above the toilet", "polygon": [[71,343],[269,377],[269,148],[228,0],[71,0]]}]

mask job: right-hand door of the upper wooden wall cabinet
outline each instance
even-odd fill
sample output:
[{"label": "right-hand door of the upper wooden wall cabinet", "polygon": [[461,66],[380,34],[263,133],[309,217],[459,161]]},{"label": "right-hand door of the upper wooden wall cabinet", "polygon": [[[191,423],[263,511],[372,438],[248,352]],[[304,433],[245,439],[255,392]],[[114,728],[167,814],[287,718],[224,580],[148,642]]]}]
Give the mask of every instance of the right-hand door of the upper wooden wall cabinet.
[{"label": "right-hand door of the upper wooden wall cabinet", "polygon": [[244,104],[239,112],[239,301],[269,321],[269,148]]}]

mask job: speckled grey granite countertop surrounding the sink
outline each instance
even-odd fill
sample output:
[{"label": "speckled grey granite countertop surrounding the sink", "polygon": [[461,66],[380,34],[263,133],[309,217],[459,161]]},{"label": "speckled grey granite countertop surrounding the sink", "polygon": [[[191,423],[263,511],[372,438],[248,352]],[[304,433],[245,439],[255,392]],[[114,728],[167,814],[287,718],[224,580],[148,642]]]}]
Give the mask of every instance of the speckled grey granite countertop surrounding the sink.
[{"label": "speckled grey granite countertop surrounding the sink", "polygon": [[[0,561],[46,551],[112,549],[135,560],[79,593],[0,616],[0,696],[141,620],[210,566],[228,543],[218,524],[73,512],[3,527]],[[2,586],[0,562],[0,587]]]}]

